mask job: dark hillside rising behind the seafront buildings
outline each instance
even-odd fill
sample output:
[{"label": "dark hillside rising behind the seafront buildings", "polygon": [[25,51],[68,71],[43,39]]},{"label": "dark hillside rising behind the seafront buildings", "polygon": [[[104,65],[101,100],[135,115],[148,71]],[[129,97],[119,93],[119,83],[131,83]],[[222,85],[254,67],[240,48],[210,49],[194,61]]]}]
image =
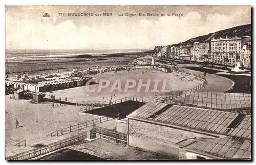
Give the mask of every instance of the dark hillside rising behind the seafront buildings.
[{"label": "dark hillside rising behind the seafront buildings", "polygon": [[[245,25],[240,25],[236,26],[233,28],[225,29],[222,31],[218,31],[215,33],[210,33],[208,35],[204,36],[199,36],[196,38],[191,38],[185,42],[177,43],[177,44],[172,44],[172,45],[167,45],[167,47],[170,46],[186,46],[188,44],[193,44],[194,42],[200,42],[200,43],[207,43],[210,42],[212,38],[225,38],[225,37],[242,37],[242,36],[251,36],[251,24],[245,24]],[[155,50],[161,49],[162,46],[156,46]]]}]

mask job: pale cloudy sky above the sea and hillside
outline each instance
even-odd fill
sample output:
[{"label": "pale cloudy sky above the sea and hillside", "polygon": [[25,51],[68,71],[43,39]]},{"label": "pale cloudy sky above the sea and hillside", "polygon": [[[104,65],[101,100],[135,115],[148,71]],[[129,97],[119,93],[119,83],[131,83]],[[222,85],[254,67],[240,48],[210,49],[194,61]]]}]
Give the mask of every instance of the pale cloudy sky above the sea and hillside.
[{"label": "pale cloudy sky above the sea and hillside", "polygon": [[249,23],[250,6],[6,6],[5,39],[6,49],[154,49]]}]

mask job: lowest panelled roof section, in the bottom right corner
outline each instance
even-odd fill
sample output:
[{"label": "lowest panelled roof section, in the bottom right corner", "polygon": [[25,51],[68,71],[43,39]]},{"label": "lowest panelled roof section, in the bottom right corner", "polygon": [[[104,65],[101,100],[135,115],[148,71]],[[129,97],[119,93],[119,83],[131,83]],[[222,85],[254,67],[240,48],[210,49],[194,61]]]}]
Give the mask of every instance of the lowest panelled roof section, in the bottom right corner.
[{"label": "lowest panelled roof section, in the bottom right corner", "polygon": [[[186,142],[186,141],[185,141]],[[250,159],[251,141],[236,140],[235,137],[223,137],[212,139],[193,139],[189,144],[177,143],[185,149],[200,154],[208,154],[222,158]]]}]

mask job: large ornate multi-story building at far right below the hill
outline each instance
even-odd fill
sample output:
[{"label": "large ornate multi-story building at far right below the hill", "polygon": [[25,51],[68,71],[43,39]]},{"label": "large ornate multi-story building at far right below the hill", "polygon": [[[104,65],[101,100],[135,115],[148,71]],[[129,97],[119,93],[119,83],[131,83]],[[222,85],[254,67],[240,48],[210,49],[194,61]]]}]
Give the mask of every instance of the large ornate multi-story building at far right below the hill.
[{"label": "large ornate multi-story building at far right below the hill", "polygon": [[[237,55],[242,55],[242,46],[245,45],[245,43],[248,43],[250,41],[250,36],[245,37],[232,37],[232,38],[222,38],[219,39],[212,39],[210,43],[210,54],[211,54],[211,61],[215,63],[223,63],[223,64],[234,64],[236,62]],[[244,54],[246,59],[246,54],[248,54],[248,49],[246,50],[246,47],[244,49]],[[250,50],[249,50],[250,52]],[[249,57],[249,55],[248,55]],[[248,59],[244,60],[244,65],[248,66]]]}]

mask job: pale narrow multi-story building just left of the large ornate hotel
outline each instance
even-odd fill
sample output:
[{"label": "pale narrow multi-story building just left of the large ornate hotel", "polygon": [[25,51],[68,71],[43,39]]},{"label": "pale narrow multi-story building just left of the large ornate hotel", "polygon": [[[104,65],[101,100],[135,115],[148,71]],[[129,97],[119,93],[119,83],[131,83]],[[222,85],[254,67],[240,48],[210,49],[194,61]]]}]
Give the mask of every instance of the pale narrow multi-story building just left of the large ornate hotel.
[{"label": "pale narrow multi-story building just left of the large ornate hotel", "polygon": [[200,43],[194,42],[193,51],[194,51],[194,60],[202,61],[201,57],[208,53],[209,44],[208,43]]}]

